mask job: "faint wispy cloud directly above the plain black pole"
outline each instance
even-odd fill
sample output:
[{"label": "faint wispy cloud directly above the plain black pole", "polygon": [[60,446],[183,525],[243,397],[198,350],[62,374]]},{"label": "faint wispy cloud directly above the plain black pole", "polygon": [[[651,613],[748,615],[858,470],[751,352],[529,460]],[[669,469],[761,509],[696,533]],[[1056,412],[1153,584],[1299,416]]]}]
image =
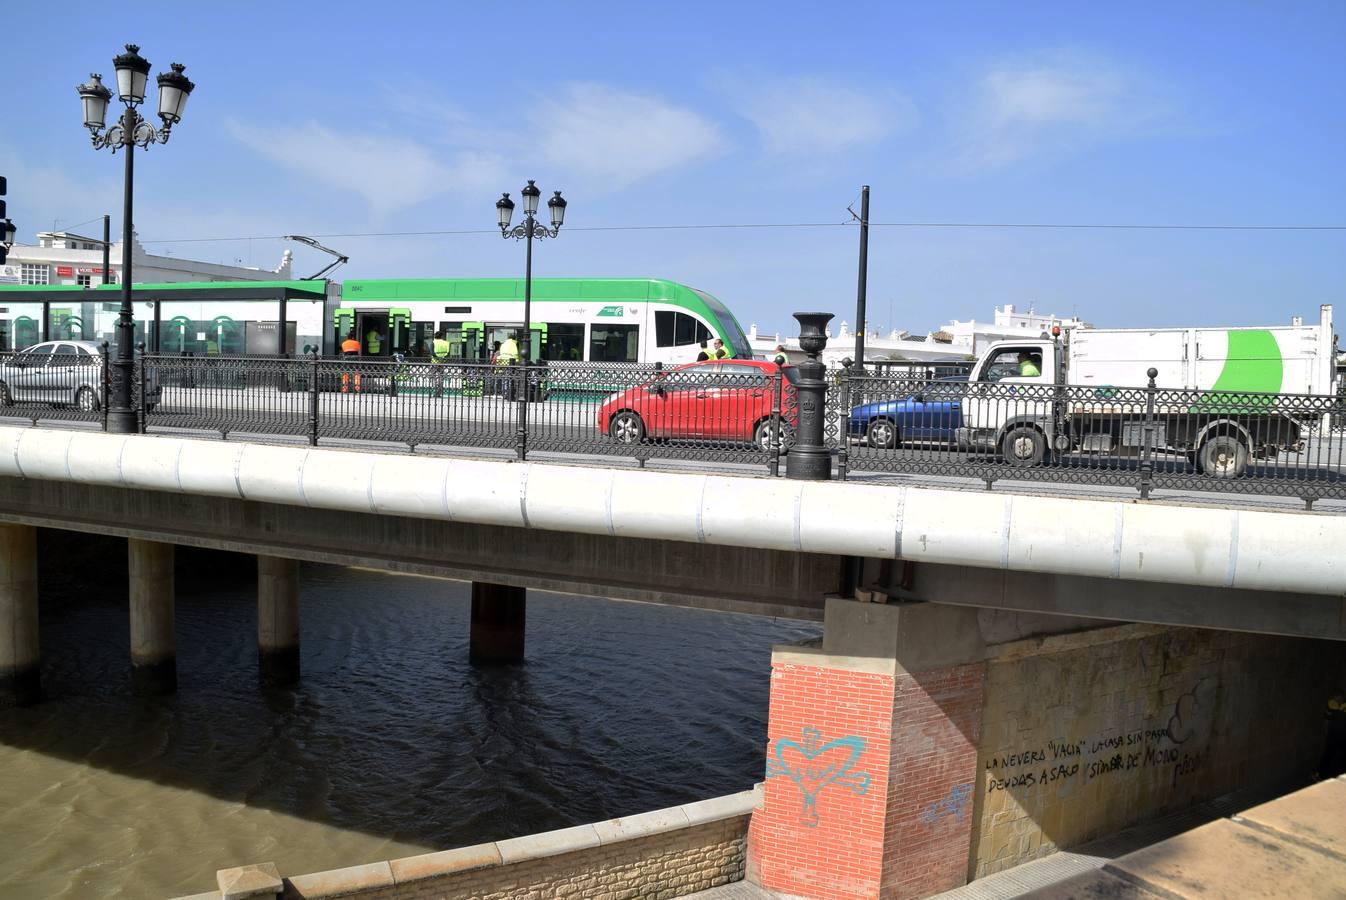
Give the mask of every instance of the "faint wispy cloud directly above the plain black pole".
[{"label": "faint wispy cloud directly above the plain black pole", "polygon": [[826,78],[720,75],[717,87],[775,153],[830,153],[874,144],[915,124],[915,106],[890,89],[859,90]]}]

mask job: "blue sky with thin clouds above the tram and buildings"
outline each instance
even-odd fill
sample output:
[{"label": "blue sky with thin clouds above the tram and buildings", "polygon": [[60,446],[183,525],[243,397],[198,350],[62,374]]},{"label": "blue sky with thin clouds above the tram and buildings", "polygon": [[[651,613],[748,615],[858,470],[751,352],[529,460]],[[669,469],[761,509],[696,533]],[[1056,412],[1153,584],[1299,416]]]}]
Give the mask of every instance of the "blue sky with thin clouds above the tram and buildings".
[{"label": "blue sky with thin clouds above the tram and buildings", "polygon": [[[205,260],[327,261],[156,241],[489,230],[534,178],[569,200],[536,274],[685,281],[773,331],[798,309],[853,320],[840,223],[864,183],[875,222],[1346,225],[1341,0],[12,5],[0,174],[27,241],[120,227],[121,160],[89,147],[74,86],[110,81],[124,42],[198,85],[137,156],[136,219],[151,250]],[[830,225],[598,230],[720,223]],[[322,239],[346,278],[524,262],[489,231]],[[1003,303],[1114,326],[1346,319],[1341,230],[875,227],[870,261],[879,327]]]}]

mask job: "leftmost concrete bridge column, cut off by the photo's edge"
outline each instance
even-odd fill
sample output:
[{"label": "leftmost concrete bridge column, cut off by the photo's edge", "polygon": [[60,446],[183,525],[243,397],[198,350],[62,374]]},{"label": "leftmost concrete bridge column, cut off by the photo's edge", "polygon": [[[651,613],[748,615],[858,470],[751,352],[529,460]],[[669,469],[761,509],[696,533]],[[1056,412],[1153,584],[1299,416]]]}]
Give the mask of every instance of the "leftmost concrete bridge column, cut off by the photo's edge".
[{"label": "leftmost concrete bridge column, cut off by the photo's edge", "polygon": [[38,539],[31,525],[0,525],[0,708],[42,694]]}]

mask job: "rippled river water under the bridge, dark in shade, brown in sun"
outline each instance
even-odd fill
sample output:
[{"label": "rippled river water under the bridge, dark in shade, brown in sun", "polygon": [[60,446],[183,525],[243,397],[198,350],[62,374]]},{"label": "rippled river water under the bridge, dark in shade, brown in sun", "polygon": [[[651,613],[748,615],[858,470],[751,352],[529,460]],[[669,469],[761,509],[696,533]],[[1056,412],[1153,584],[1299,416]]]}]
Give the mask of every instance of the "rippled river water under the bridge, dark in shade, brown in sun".
[{"label": "rippled river water under the bridge, dark in shade, brown in sun", "polygon": [[474,669],[467,584],[306,565],[303,681],[265,691],[252,558],[179,550],[178,693],[144,700],[102,550],[42,548],[47,700],[0,710],[7,899],[172,897],[746,790],[770,647],[820,631],[534,592],[526,662]]}]

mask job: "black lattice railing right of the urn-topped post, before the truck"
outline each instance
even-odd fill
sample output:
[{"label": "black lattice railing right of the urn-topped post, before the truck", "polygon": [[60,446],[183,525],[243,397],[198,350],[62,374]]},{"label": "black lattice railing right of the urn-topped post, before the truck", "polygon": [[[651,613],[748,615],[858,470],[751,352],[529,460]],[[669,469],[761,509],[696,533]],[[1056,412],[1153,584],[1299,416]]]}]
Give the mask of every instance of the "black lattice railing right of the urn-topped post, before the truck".
[{"label": "black lattice railing right of the urn-topped post, before the truck", "polygon": [[[845,375],[843,478],[906,472],[1346,498],[1346,397]],[[844,435],[845,437],[840,437]]]}]

